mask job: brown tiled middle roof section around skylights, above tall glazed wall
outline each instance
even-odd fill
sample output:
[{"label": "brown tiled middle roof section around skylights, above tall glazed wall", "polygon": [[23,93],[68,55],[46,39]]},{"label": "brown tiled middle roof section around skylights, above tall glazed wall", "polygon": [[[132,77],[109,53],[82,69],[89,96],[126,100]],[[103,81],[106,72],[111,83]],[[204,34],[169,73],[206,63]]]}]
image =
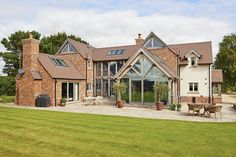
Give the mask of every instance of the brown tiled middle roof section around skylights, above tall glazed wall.
[{"label": "brown tiled middle roof section around skylights, above tall glazed wall", "polygon": [[[94,48],[92,55],[94,61],[126,60],[135,54],[140,47],[137,45],[126,45],[116,47]],[[124,50],[122,55],[108,55],[111,50]]]}]

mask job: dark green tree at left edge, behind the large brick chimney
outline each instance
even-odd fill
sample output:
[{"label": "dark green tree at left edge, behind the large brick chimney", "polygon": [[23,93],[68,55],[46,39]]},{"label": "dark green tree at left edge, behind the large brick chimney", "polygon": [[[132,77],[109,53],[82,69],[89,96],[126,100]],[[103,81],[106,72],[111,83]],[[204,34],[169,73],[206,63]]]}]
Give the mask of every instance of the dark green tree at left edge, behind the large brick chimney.
[{"label": "dark green tree at left edge, behind the large brick chimney", "polygon": [[[32,35],[35,39],[40,39],[40,33],[32,31]],[[8,38],[3,38],[1,43],[6,48],[6,52],[1,52],[0,57],[5,62],[3,73],[8,76],[16,76],[18,69],[20,68],[20,58],[23,51],[22,39],[29,37],[29,31],[17,31],[12,33]]]}]

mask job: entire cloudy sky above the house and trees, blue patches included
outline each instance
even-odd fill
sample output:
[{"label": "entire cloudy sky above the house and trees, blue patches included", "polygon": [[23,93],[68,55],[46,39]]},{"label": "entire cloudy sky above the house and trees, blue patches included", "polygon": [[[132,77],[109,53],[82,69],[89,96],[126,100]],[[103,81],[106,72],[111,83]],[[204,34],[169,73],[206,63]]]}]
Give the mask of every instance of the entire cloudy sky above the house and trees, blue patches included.
[{"label": "entire cloudy sky above the house and trees, blue patches included", "polygon": [[[0,40],[17,30],[65,31],[95,47],[134,44],[155,32],[167,44],[212,41],[236,32],[235,0],[0,0]],[[0,45],[0,51],[4,51]],[[0,62],[0,71],[4,63]],[[0,73],[1,74],[1,73]]]}]

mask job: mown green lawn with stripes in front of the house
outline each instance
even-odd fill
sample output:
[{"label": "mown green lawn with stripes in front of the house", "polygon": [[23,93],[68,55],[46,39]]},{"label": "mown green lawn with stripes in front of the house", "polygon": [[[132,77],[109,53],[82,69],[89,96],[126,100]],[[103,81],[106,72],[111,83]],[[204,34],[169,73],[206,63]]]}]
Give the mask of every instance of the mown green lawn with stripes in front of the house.
[{"label": "mown green lawn with stripes in front of the house", "polygon": [[236,123],[153,120],[0,107],[0,157],[235,155]]}]

